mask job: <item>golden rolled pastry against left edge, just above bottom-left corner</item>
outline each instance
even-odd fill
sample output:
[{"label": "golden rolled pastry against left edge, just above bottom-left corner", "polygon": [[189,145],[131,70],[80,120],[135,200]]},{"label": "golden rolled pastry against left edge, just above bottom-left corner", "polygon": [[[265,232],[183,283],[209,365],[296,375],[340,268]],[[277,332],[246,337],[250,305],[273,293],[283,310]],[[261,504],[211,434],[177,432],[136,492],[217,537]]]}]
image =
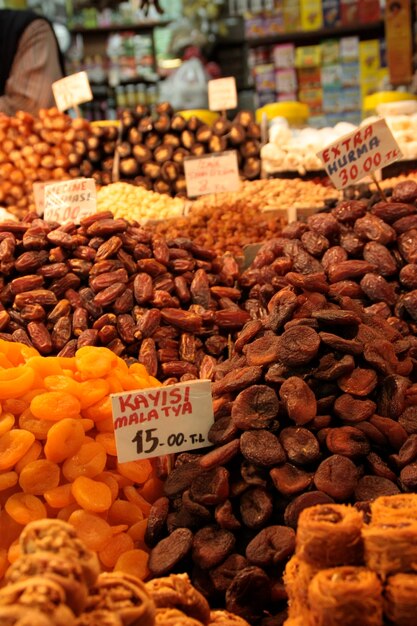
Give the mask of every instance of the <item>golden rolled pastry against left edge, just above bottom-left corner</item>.
[{"label": "golden rolled pastry against left edge, just above bottom-left corner", "polygon": [[0,607],[22,606],[45,613],[54,626],[73,626],[74,613],[66,605],[65,591],[49,578],[34,576],[0,589]]}]

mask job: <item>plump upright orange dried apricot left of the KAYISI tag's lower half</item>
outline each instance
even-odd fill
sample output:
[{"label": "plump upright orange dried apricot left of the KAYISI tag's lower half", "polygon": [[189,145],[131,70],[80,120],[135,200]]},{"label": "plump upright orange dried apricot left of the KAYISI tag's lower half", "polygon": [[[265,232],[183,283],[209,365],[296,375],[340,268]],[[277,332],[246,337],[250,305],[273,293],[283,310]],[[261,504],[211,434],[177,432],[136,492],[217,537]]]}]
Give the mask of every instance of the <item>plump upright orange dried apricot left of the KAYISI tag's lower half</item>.
[{"label": "plump upright orange dried apricot left of the KAYISI tag's lower half", "polygon": [[81,420],[65,417],[50,427],[44,447],[45,456],[49,461],[61,463],[78,452],[84,440]]}]

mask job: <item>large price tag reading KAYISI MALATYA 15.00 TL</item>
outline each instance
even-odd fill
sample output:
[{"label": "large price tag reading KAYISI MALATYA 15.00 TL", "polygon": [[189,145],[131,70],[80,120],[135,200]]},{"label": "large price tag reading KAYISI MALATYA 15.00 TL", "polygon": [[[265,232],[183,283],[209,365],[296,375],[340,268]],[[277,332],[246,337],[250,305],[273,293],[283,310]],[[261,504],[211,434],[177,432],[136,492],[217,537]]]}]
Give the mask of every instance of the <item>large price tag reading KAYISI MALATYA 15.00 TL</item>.
[{"label": "large price tag reading KAYISI MALATYA 15.00 TL", "polygon": [[111,395],[120,463],[206,448],[214,422],[211,382],[196,380]]}]

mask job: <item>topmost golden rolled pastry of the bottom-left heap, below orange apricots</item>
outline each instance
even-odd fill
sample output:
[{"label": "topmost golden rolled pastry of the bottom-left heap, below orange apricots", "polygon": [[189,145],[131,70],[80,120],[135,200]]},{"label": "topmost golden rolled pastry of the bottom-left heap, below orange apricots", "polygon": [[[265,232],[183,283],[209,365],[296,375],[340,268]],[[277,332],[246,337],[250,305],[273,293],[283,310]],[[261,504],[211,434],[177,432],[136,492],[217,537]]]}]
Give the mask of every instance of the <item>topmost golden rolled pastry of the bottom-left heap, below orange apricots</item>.
[{"label": "topmost golden rolled pastry of the bottom-left heap, below orange apricots", "polygon": [[22,554],[53,552],[75,559],[82,567],[86,585],[94,584],[100,573],[95,552],[88,550],[78,538],[75,528],[59,519],[41,519],[28,524],[19,538]]}]

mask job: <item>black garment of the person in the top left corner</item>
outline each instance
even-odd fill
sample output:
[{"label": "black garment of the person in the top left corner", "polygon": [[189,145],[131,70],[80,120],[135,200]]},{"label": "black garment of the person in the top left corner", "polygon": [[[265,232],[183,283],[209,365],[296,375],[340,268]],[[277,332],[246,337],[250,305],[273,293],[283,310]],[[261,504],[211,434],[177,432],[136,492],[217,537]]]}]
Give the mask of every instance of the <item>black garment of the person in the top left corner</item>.
[{"label": "black garment of the person in the top left corner", "polygon": [[[35,13],[34,11],[18,11],[12,9],[0,10],[0,96],[5,93],[6,82],[10,76],[10,70],[12,69],[13,60],[16,55],[21,36],[32,22],[39,19],[48,22],[55,36],[52,24],[46,18],[38,13]],[[58,41],[56,45],[58,48],[62,74],[64,75],[64,59],[60,51]]]}]

